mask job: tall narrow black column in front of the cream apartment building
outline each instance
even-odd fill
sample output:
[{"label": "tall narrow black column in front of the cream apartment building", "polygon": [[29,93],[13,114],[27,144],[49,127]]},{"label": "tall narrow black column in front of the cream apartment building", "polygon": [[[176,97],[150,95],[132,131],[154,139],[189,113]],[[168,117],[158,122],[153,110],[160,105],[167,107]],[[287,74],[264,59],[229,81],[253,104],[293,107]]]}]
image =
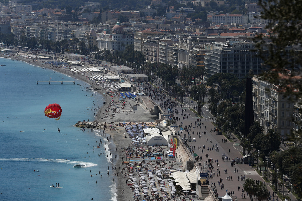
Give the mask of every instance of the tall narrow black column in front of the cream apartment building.
[{"label": "tall narrow black column in front of the cream apartment building", "polygon": [[252,78],[246,79],[246,105],[244,117],[244,137],[249,134],[249,127],[254,122],[253,96],[252,96]]}]

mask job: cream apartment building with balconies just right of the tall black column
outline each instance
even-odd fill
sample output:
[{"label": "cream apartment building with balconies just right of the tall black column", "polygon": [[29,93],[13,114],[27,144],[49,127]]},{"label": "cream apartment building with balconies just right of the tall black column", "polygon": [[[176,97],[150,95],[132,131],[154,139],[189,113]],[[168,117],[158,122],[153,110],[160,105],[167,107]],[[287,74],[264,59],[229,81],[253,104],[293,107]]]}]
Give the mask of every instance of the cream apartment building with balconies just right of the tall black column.
[{"label": "cream apartment building with balconies just right of the tall black column", "polygon": [[[278,75],[280,83],[289,79],[302,80],[301,76],[291,76],[291,71]],[[259,121],[265,131],[270,128],[274,129],[286,139],[287,134],[291,133],[294,127],[297,128],[293,118],[295,115],[300,118],[297,113],[299,104],[295,102],[298,100],[298,89],[293,88],[290,84],[281,86],[279,83],[269,83],[258,75],[253,76],[252,84],[254,120]],[[286,95],[288,90],[292,92],[291,96]],[[297,93],[296,96],[295,93]]]}]

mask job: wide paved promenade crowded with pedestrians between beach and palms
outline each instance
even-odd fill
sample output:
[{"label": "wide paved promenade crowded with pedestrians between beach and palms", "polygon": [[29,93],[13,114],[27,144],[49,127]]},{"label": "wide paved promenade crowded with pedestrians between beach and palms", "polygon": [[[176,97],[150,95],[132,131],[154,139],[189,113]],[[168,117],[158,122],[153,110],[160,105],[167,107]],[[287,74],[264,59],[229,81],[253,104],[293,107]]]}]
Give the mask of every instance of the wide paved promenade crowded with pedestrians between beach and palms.
[{"label": "wide paved promenade crowded with pedestrians between beach and palms", "polygon": [[[172,102],[174,102],[174,99],[170,99],[170,100]],[[190,106],[188,105],[190,103],[190,100],[191,99],[186,97],[186,105],[182,105],[182,107],[176,107],[176,109],[178,111],[180,111],[180,113],[178,115],[176,115],[174,113],[174,116],[178,117],[180,119],[179,121],[177,121],[177,124],[179,124],[180,121],[183,122],[183,127],[191,125],[191,123],[192,123],[192,130],[189,131],[189,133],[191,134],[191,138],[195,138],[196,142],[188,142],[188,146],[193,146],[194,153],[196,153],[200,157],[202,157],[202,161],[198,161],[198,162],[201,162],[199,167],[200,168],[202,168],[204,166],[208,167],[206,164],[206,160],[207,160],[206,154],[209,155],[209,159],[214,160],[213,172],[215,173],[215,175],[213,176],[213,178],[209,178],[210,186],[214,189],[214,184],[216,185],[218,196],[224,196],[226,194],[226,189],[227,189],[227,192],[234,191],[234,196],[232,196],[233,200],[250,199],[249,197],[247,197],[246,192],[242,193],[244,181],[241,180],[241,176],[245,177],[245,178],[252,178],[255,181],[258,180],[258,181],[264,182],[262,177],[255,171],[255,169],[253,169],[251,166],[249,166],[247,164],[235,164],[232,167],[230,162],[226,162],[226,160],[224,160],[224,161],[222,160],[222,155],[224,156],[224,154],[226,157],[228,157],[230,159],[243,158],[243,155],[240,154],[240,152],[242,152],[242,147],[239,146],[240,140],[237,139],[234,135],[232,135],[233,142],[229,142],[228,140],[226,140],[226,137],[224,137],[223,135],[217,135],[217,133],[210,132],[211,129],[214,130],[214,125],[210,121],[210,117],[212,119],[212,115],[209,113],[207,107],[202,108],[202,111],[203,111],[202,116],[204,118],[199,118],[201,121],[201,124],[204,123],[204,126],[206,127],[206,129],[204,126],[201,126],[201,128],[197,127],[197,124],[196,124],[196,129],[193,130],[195,121],[197,121],[198,118],[195,117],[194,112],[189,109],[189,108],[193,108],[193,104]],[[156,102],[159,103],[158,101],[156,101]],[[179,104],[179,102],[176,102],[176,103]],[[196,102],[194,102],[194,105],[196,106]],[[187,115],[190,114],[190,117],[187,118],[186,120],[185,119],[183,120],[182,119],[183,116],[180,115],[182,109],[186,109],[186,112],[184,112],[184,114],[187,114]],[[180,137],[183,137],[185,133],[187,134],[186,137],[188,137],[188,133],[185,132],[185,130],[182,130],[182,132],[180,132],[180,129],[178,127],[175,127],[175,130],[177,133],[179,131]],[[195,133],[194,135],[192,134],[193,131]],[[201,133],[201,138],[198,137],[197,132]],[[202,132],[206,132],[206,135],[202,135]],[[226,140],[226,143],[224,143],[224,140]],[[203,149],[203,152],[201,152],[201,149],[198,150],[198,146],[200,146],[201,149],[203,148],[203,146],[205,146],[205,149]],[[215,146],[219,147],[219,152],[215,151]],[[207,151],[208,147],[209,148],[214,147],[213,151]],[[229,152],[229,150],[230,150],[230,152]],[[215,160],[218,161],[218,165],[217,165],[217,163],[215,163]],[[235,172],[235,168],[236,168],[236,172]],[[256,166],[254,166],[254,168],[256,168]],[[206,168],[203,172],[206,172],[207,170],[208,170],[208,168]],[[217,175],[217,170],[220,171],[220,175],[219,174]],[[238,170],[238,173],[237,173],[237,170]],[[217,182],[221,181],[220,179],[222,179],[221,184],[223,184],[223,186],[224,186],[223,190],[221,189],[221,184],[220,184],[220,186],[218,186],[218,184],[217,184]],[[272,195],[272,192],[275,191],[275,188],[274,188],[274,190],[272,190],[268,184],[267,184],[267,188]],[[245,198],[244,198],[244,194],[246,195]],[[291,194],[288,193],[288,196],[290,196],[290,195]],[[243,198],[242,198],[242,196],[243,196]],[[274,196],[271,198],[271,200],[273,200],[273,198],[277,199],[277,197]],[[280,198],[278,198],[278,199],[281,200]],[[293,199],[296,200],[294,197],[293,197]]]}]

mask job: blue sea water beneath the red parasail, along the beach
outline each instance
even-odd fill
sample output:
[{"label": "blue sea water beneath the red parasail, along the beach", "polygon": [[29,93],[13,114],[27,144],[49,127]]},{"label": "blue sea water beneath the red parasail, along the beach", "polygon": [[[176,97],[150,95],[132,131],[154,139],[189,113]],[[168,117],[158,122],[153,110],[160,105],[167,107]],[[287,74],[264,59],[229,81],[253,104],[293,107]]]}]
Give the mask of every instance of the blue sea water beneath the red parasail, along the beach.
[{"label": "blue sea water beneath the red parasail, along the beach", "polygon": [[[95,119],[102,96],[85,91],[80,80],[37,85],[50,77],[73,81],[50,69],[6,58],[0,64],[6,65],[0,67],[0,200],[116,200],[114,176],[107,175],[108,166],[112,173],[108,143],[93,153],[105,138],[73,126]],[[44,115],[52,103],[62,108],[58,121]],[[86,166],[74,168],[78,163]],[[56,183],[63,188],[50,188]]]}]

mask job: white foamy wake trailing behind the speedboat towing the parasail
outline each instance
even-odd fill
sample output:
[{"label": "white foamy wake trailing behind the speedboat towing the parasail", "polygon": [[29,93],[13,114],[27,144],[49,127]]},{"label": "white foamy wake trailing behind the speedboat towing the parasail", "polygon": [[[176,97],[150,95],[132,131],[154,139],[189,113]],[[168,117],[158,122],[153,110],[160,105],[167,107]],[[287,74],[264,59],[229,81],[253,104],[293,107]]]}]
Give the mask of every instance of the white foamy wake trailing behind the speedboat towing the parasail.
[{"label": "white foamy wake trailing behind the speedboat towing the parasail", "polygon": [[95,163],[87,163],[87,162],[82,162],[82,161],[70,161],[70,160],[64,160],[64,159],[27,159],[27,158],[11,158],[11,159],[1,159],[0,161],[24,161],[24,162],[53,162],[53,163],[66,163],[66,164],[72,164],[72,165],[77,165],[77,164],[83,164],[85,167],[93,167],[96,166],[97,164]]}]

